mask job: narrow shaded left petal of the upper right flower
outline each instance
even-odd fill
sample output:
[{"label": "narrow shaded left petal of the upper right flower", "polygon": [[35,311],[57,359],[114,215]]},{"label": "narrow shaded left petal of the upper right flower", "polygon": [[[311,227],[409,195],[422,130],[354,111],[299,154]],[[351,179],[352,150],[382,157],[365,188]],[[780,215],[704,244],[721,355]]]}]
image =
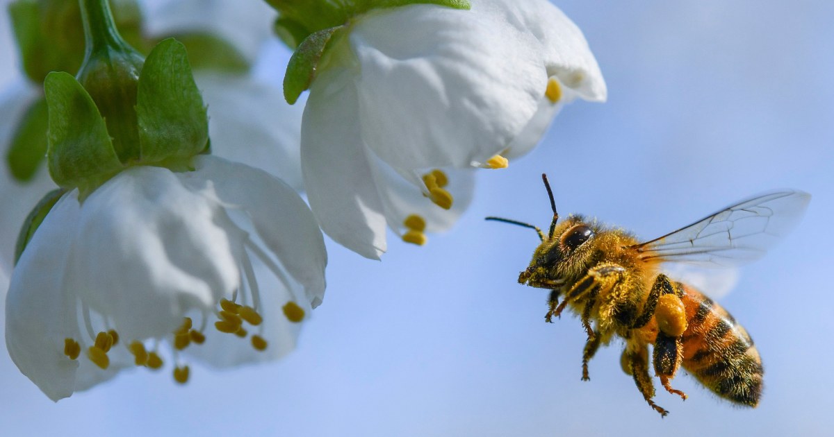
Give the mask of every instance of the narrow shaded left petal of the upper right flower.
[{"label": "narrow shaded left petal of the upper right flower", "polygon": [[385,216],[366,146],[359,133],[357,97],[339,68],[319,74],[301,127],[301,166],[310,208],[322,230],[361,256],[385,251]]}]

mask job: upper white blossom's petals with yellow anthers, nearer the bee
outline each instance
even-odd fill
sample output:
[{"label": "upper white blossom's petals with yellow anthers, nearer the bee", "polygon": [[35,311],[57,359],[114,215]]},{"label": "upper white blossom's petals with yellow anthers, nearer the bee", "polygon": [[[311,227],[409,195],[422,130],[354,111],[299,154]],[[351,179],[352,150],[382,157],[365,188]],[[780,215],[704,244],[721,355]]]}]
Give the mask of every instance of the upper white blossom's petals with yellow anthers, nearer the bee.
[{"label": "upper white blossom's petals with yellow anthers, nearer the bee", "polygon": [[[414,230],[404,215],[438,228],[455,221],[455,204],[471,193],[455,191],[459,176],[448,169],[506,166],[565,102],[605,100],[585,38],[545,0],[475,0],[470,11],[410,5],[349,26],[317,67],[301,160],[322,228],[363,256],[385,251],[386,223]],[[452,185],[426,183],[433,169]],[[408,191],[418,196],[405,199]]]}]

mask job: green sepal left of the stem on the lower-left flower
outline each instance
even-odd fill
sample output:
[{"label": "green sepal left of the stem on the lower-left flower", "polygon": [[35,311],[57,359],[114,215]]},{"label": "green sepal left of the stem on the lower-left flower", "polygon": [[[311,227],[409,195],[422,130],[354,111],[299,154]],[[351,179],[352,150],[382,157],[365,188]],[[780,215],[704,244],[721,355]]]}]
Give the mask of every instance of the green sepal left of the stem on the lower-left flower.
[{"label": "green sepal left of the stem on the lower-left flower", "polygon": [[67,72],[43,82],[49,110],[47,161],[58,186],[78,186],[83,199],[122,169],[104,119],[87,90]]}]

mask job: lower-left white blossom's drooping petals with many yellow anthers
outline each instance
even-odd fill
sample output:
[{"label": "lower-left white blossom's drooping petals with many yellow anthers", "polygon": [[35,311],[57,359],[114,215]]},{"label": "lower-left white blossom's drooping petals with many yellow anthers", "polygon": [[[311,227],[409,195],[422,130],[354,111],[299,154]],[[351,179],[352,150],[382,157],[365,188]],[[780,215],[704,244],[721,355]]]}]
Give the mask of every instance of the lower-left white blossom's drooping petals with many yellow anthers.
[{"label": "lower-left white blossom's drooping petals with many yellow anthers", "polygon": [[224,366],[294,346],[294,325],[324,296],[314,217],[265,171],[214,156],[194,166],[132,167],[81,204],[70,191],[29,241],[8,291],[6,344],[49,398],[126,367],[170,360],[184,382],[185,355]]}]

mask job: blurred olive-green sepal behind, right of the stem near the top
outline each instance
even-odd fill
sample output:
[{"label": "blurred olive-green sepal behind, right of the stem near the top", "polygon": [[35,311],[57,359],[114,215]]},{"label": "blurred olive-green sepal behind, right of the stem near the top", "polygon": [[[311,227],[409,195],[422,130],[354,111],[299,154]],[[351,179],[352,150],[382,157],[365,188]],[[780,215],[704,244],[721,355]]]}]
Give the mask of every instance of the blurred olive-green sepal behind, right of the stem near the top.
[{"label": "blurred olive-green sepal behind, right of the stem near the top", "polygon": [[247,72],[249,60],[224,38],[210,33],[193,32],[171,35],[182,42],[188,51],[188,62],[193,70],[215,72]]}]

